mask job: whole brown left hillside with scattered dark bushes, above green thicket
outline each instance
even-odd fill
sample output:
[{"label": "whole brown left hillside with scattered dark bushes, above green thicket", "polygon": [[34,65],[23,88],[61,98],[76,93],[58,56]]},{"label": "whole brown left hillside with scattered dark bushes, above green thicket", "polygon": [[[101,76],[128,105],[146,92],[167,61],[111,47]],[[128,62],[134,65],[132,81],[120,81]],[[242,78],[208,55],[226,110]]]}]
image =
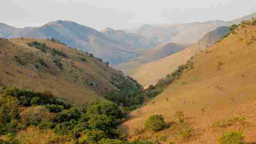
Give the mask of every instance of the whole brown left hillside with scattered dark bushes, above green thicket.
[{"label": "whole brown left hillside with scattered dark bushes, above green thicket", "polygon": [[0,39],[0,86],[16,86],[84,104],[132,84],[93,55],[44,39]]}]

